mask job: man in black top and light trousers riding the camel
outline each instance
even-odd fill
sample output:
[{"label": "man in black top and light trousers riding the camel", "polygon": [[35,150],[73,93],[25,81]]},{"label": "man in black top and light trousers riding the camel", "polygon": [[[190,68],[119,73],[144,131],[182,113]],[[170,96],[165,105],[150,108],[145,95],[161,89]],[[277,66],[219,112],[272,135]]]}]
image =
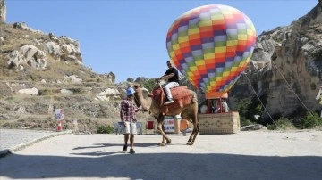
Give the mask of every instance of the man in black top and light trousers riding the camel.
[{"label": "man in black top and light trousers riding the camel", "polygon": [[166,104],[174,102],[170,88],[179,86],[179,72],[174,68],[171,61],[166,61],[166,65],[168,66],[168,70],[165,71],[165,75],[160,77],[159,79],[165,79],[167,82],[163,85],[165,89],[165,94],[167,98]]}]

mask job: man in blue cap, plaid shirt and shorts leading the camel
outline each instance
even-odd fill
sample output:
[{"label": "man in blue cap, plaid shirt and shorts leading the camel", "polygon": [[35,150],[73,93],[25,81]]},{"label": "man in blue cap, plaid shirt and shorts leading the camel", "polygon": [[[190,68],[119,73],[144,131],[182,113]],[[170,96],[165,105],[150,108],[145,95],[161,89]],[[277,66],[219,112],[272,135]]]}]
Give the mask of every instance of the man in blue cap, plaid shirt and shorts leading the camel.
[{"label": "man in blue cap, plaid shirt and shorts leading the camel", "polygon": [[130,136],[130,153],[134,154],[135,151],[133,150],[134,145],[134,135],[137,133],[136,127],[136,115],[135,112],[141,110],[141,107],[135,108],[133,103],[133,94],[135,93],[134,89],[129,86],[126,89],[127,98],[121,102],[121,111],[120,117],[123,122],[123,134],[124,134],[124,146],[123,151],[127,151],[128,141]]}]

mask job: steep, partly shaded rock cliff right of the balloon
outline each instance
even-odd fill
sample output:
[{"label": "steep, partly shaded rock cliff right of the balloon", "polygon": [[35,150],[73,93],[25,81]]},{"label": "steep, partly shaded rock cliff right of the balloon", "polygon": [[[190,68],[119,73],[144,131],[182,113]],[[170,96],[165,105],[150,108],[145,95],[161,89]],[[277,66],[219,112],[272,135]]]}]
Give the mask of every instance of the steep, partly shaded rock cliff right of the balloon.
[{"label": "steep, partly shaded rock cliff right of the balloon", "polygon": [[232,106],[241,97],[258,95],[271,116],[320,108],[315,98],[322,85],[321,12],[318,4],[290,26],[258,36],[248,70],[230,92]]}]

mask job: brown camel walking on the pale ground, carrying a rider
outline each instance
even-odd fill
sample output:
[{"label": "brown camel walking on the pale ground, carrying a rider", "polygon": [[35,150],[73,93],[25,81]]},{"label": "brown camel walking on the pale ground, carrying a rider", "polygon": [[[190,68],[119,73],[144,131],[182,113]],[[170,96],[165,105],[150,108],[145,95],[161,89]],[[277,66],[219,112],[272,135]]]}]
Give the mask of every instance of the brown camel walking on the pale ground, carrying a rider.
[{"label": "brown camel walking on the pale ground, carrying a rider", "polygon": [[[156,91],[157,88],[161,89],[160,86],[155,87],[155,89],[152,91]],[[178,87],[174,87],[178,88]],[[174,89],[173,88],[173,89]],[[188,119],[193,124],[193,130],[191,133],[191,136],[189,137],[187,145],[193,145],[198,133],[199,133],[199,122],[198,122],[198,101],[197,101],[197,95],[194,91],[191,91],[187,89],[186,87],[178,89],[180,90],[179,94],[186,94],[188,96],[189,101],[185,102],[181,105],[175,106],[168,104],[163,105],[163,100],[161,98],[161,101],[157,101],[156,98],[153,98],[149,96],[148,98],[145,98],[143,96],[143,91],[148,91],[146,88],[142,86],[134,86],[135,94],[134,94],[134,102],[137,104],[137,106],[142,106],[142,109],[144,111],[149,111],[152,113],[153,117],[157,119],[157,129],[160,130],[162,135],[162,142],[160,145],[165,145],[165,140],[167,144],[171,143],[171,139],[165,135],[165,127],[164,120],[165,116],[175,116],[178,114],[181,114],[182,119]],[[173,89],[171,91],[173,92]],[[163,96],[165,98],[165,94],[161,89],[160,96]],[[179,100],[176,99],[175,94],[173,94],[174,102],[178,102]],[[165,110],[165,111],[163,111]]]}]

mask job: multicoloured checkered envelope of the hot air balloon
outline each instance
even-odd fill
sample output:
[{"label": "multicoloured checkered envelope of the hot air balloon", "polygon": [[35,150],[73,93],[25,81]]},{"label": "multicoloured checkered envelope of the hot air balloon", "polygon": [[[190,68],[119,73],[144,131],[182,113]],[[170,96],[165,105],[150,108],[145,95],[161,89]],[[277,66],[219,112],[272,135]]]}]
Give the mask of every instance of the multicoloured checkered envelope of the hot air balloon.
[{"label": "multicoloured checkered envelope of the hot air balloon", "polygon": [[251,20],[221,4],[183,13],[166,36],[174,66],[208,99],[221,97],[232,88],[250,62],[255,44]]}]

